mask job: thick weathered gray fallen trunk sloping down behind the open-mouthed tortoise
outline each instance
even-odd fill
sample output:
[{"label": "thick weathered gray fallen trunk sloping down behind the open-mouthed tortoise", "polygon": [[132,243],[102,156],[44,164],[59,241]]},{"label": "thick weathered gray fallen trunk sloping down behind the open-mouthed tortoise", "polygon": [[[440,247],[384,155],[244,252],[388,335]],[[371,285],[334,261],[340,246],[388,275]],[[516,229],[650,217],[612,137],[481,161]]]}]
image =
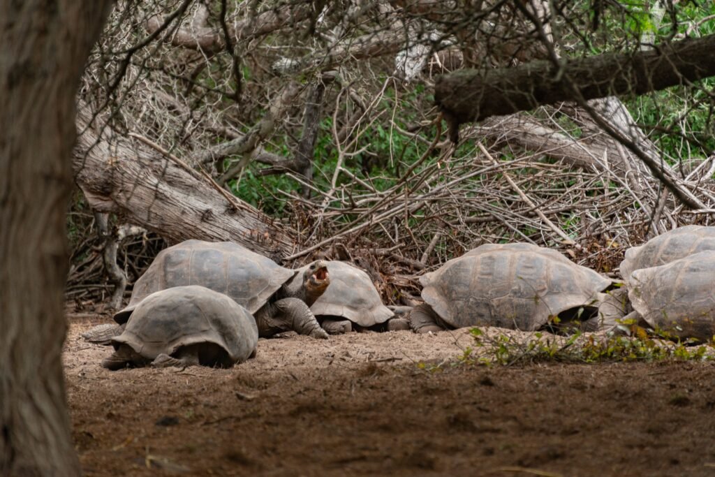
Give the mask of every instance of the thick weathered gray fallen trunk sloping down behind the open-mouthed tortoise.
[{"label": "thick weathered gray fallen trunk sloping down behind the open-mouthed tortoise", "polygon": [[230,240],[267,256],[295,252],[295,235],[237,197],[207,174],[170,154],[112,134],[101,134],[80,104],[74,179],[99,212],[116,212],[169,240]]}]

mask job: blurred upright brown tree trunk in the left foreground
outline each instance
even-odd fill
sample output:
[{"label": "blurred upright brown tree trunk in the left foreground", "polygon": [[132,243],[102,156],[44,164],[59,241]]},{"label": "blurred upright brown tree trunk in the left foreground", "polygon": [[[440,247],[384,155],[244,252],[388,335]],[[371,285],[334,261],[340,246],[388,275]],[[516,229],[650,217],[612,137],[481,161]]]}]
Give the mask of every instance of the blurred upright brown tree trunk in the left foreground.
[{"label": "blurred upright brown tree trunk in the left foreground", "polygon": [[61,350],[74,97],[111,1],[0,2],[0,475],[74,476]]}]

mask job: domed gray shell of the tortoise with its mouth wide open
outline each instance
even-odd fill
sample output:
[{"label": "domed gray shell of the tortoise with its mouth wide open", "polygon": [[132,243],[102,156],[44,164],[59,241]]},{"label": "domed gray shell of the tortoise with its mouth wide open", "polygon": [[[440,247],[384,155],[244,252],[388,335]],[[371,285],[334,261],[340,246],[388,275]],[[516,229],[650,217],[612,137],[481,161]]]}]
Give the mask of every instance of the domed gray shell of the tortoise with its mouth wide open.
[{"label": "domed gray shell of the tortoise with its mouth wide open", "polygon": [[126,323],[145,297],[170,287],[201,285],[228,295],[249,313],[256,313],[295,270],[233,242],[187,240],[159,252],[134,284],[129,305],[114,315]]}]

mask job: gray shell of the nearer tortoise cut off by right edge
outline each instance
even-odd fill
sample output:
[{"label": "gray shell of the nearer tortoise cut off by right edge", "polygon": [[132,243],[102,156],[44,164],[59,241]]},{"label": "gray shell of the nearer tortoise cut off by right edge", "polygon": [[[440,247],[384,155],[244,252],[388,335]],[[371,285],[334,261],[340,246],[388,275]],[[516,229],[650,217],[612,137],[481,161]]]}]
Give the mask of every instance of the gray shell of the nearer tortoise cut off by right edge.
[{"label": "gray shell of the nearer tortoise cut off by right edge", "polygon": [[631,274],[628,298],[654,328],[679,338],[715,335],[715,250]]}]

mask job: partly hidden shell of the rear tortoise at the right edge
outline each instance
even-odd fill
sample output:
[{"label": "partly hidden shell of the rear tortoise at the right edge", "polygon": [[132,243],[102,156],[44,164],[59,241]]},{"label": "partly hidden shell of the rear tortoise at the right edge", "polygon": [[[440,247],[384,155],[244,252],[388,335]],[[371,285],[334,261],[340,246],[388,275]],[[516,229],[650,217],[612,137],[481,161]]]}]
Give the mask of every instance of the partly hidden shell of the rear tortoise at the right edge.
[{"label": "partly hidden shell of the rear tortoise at the right edge", "polygon": [[621,276],[628,283],[636,270],[664,265],[705,250],[715,250],[715,227],[679,227],[652,238],[640,247],[626,250],[626,257],[621,262]]}]

